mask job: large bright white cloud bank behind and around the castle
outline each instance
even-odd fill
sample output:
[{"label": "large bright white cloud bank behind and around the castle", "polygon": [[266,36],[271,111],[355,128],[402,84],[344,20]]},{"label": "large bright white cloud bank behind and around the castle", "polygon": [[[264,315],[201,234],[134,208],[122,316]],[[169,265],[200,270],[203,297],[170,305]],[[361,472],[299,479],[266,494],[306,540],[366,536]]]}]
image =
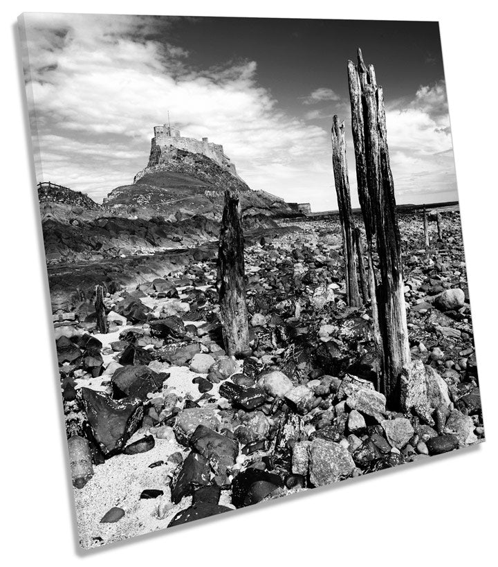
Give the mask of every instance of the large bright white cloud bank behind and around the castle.
[{"label": "large bright white cloud bank behind and around the castle", "polygon": [[169,26],[163,42],[150,39],[158,25],[142,17],[26,16],[27,80],[46,181],[98,200],[131,183],[167,111],[183,136],[222,143],[255,189],[292,187],[296,168],[306,172],[326,155],[324,129],[279,109],[257,82],[256,62],[198,71]]}]

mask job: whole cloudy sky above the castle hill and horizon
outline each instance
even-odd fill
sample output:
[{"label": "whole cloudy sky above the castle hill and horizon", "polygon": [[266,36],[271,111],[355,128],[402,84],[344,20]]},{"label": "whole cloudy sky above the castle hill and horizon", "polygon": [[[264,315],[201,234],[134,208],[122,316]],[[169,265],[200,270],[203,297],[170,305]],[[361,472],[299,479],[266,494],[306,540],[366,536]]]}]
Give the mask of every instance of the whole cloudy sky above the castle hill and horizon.
[{"label": "whole cloudy sky above the castle hill and horizon", "polygon": [[334,114],[358,206],[347,61],[386,105],[398,204],[457,200],[437,22],[34,14],[21,17],[37,181],[102,202],[145,168],[153,127],[223,145],[255,190],[337,208]]}]

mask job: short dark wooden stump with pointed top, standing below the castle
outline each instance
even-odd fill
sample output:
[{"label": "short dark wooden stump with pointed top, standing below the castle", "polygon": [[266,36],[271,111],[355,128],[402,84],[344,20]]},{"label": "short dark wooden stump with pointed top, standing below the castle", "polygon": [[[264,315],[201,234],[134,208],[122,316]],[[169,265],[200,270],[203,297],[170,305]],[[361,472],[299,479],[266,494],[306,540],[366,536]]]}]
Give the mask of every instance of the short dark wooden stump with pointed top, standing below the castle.
[{"label": "short dark wooden stump with pointed top, standing below the castle", "polygon": [[225,191],[218,249],[218,292],[225,351],[249,349],[249,325],[243,257],[243,231],[237,190]]}]

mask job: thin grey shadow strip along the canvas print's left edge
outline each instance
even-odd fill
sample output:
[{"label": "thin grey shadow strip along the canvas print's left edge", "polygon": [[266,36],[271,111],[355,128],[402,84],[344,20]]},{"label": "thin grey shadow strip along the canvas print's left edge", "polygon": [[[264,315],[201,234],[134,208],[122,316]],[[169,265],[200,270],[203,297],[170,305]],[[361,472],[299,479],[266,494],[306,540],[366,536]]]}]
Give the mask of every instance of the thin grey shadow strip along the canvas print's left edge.
[{"label": "thin grey shadow strip along the canvas print's left edge", "polygon": [[30,181],[31,181],[31,205],[32,205],[32,214],[31,214],[31,222],[33,222],[37,228],[37,243],[38,243],[38,282],[43,285],[43,291],[45,296],[45,312],[46,312],[46,325],[48,329],[48,336],[52,338],[52,346],[50,348],[50,353],[52,355],[52,372],[53,377],[53,386],[55,390],[56,399],[59,399],[60,404],[60,413],[59,413],[59,434],[60,440],[62,444],[62,451],[64,451],[65,455],[65,462],[66,462],[66,471],[64,477],[66,478],[66,489],[67,489],[67,500],[71,506],[71,525],[73,528],[73,541],[75,543],[75,552],[77,555],[81,557],[87,557],[87,554],[80,548],[80,536],[77,530],[77,521],[76,521],[76,506],[75,506],[75,499],[73,494],[73,483],[71,482],[71,473],[69,467],[69,452],[67,446],[67,438],[66,438],[66,424],[64,422],[64,411],[62,406],[62,395],[61,395],[61,388],[59,382],[59,363],[57,361],[57,350],[55,348],[55,335],[54,335],[54,328],[53,328],[53,321],[52,321],[52,304],[50,302],[50,287],[48,286],[48,274],[46,269],[46,260],[45,260],[45,249],[44,249],[44,237],[42,232],[42,219],[39,213],[39,201],[38,201],[38,192],[37,192],[37,179],[36,179],[36,172],[35,172],[35,162],[33,159],[34,156],[34,147],[33,147],[33,138],[31,136],[31,129],[30,129],[30,122],[29,122],[29,112],[28,112],[28,100],[26,97],[26,89],[24,84],[24,74],[23,74],[23,62],[22,62],[22,48],[21,48],[21,35],[19,33],[19,27],[17,21],[15,24],[12,24],[12,41],[14,42],[14,49],[15,55],[17,58],[17,62],[19,63],[19,97],[23,101],[23,110],[24,110],[24,132],[25,132],[25,154],[26,154],[26,163],[28,164],[29,171],[30,171]]}]

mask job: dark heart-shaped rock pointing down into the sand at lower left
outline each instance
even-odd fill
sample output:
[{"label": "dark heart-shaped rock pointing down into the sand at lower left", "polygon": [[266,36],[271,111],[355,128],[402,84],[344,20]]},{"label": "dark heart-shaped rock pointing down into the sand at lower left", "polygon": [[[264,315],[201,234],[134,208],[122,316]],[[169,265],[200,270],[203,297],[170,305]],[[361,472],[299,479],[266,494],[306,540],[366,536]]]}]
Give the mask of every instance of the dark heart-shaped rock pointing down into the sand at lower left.
[{"label": "dark heart-shaped rock pointing down into the sand at lower left", "polygon": [[140,399],[125,397],[115,400],[89,388],[82,388],[81,393],[93,436],[104,455],[121,449],[142,422]]}]

